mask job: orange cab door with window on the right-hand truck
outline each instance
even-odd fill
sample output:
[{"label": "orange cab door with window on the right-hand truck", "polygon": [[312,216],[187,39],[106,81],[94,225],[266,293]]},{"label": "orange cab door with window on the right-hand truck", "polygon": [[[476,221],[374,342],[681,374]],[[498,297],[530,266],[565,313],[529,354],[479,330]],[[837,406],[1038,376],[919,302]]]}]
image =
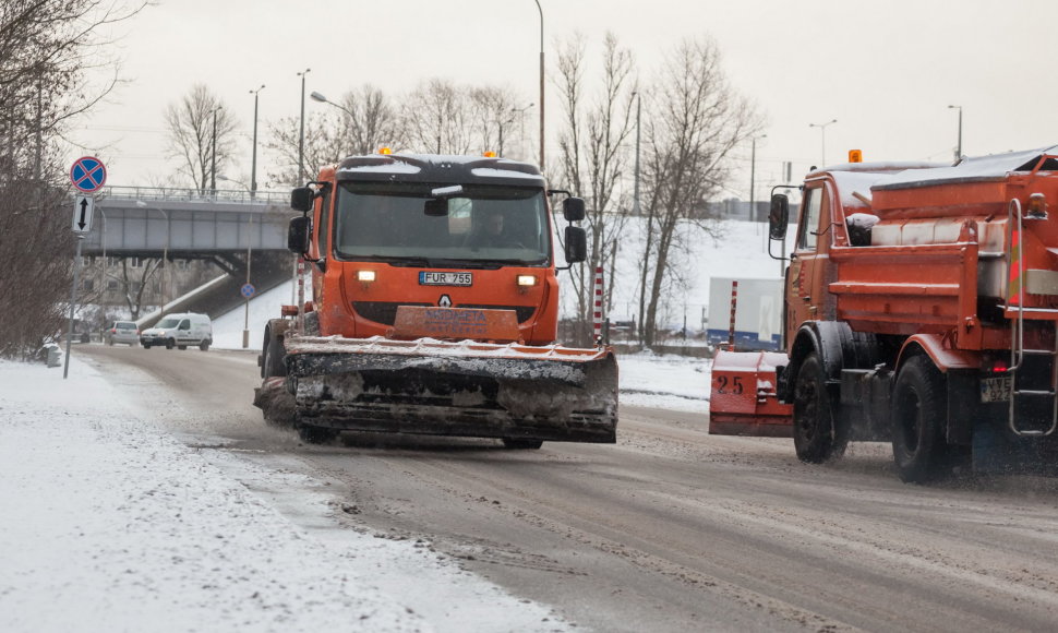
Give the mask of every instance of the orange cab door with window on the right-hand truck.
[{"label": "orange cab door with window on the right-hand truck", "polygon": [[786,341],[805,321],[826,318],[823,287],[830,256],[830,195],[826,182],[805,187],[797,223],[797,241],[786,274]]}]

